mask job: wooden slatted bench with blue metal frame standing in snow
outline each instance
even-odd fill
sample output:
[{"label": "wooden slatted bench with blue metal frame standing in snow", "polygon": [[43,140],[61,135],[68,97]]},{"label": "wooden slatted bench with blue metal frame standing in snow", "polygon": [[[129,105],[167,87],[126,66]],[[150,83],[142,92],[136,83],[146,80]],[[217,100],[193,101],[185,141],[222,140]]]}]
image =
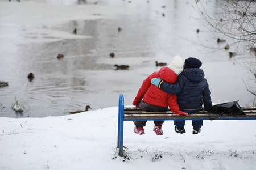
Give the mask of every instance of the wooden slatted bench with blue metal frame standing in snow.
[{"label": "wooden slatted bench with blue metal frame standing in snow", "polygon": [[[217,120],[256,120],[256,107],[242,107],[245,115],[227,115],[223,114]],[[211,120],[216,118],[218,114],[209,113],[207,111],[199,111],[188,114],[188,116],[180,116],[172,114],[170,110],[167,112],[144,112],[136,107],[126,107],[123,94],[119,95],[118,106],[118,138],[117,148],[119,148],[119,156],[123,156],[123,122],[124,121],[167,121],[167,120]]]}]

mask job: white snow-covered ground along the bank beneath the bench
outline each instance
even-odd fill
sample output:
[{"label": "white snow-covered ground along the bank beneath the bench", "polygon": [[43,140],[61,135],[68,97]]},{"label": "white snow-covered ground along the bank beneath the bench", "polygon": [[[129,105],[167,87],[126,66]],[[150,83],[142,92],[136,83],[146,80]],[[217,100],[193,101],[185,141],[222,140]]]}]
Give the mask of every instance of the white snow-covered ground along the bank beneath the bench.
[{"label": "white snow-covered ground along the bank beneath the bench", "polygon": [[117,150],[118,107],[59,117],[1,118],[0,169],[256,169],[254,120],[204,121],[201,133],[174,131],[173,121],[155,135],[126,121],[126,158]]}]

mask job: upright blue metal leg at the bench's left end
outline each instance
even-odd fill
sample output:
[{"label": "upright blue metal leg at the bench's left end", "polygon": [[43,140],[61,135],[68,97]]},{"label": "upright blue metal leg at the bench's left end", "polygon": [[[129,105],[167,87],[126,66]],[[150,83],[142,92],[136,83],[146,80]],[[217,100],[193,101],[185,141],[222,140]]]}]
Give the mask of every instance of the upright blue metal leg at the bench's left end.
[{"label": "upright blue metal leg at the bench's left end", "polygon": [[123,156],[123,114],[125,111],[125,102],[123,100],[123,94],[119,95],[118,106],[118,137],[117,148],[119,148],[119,156]]}]

